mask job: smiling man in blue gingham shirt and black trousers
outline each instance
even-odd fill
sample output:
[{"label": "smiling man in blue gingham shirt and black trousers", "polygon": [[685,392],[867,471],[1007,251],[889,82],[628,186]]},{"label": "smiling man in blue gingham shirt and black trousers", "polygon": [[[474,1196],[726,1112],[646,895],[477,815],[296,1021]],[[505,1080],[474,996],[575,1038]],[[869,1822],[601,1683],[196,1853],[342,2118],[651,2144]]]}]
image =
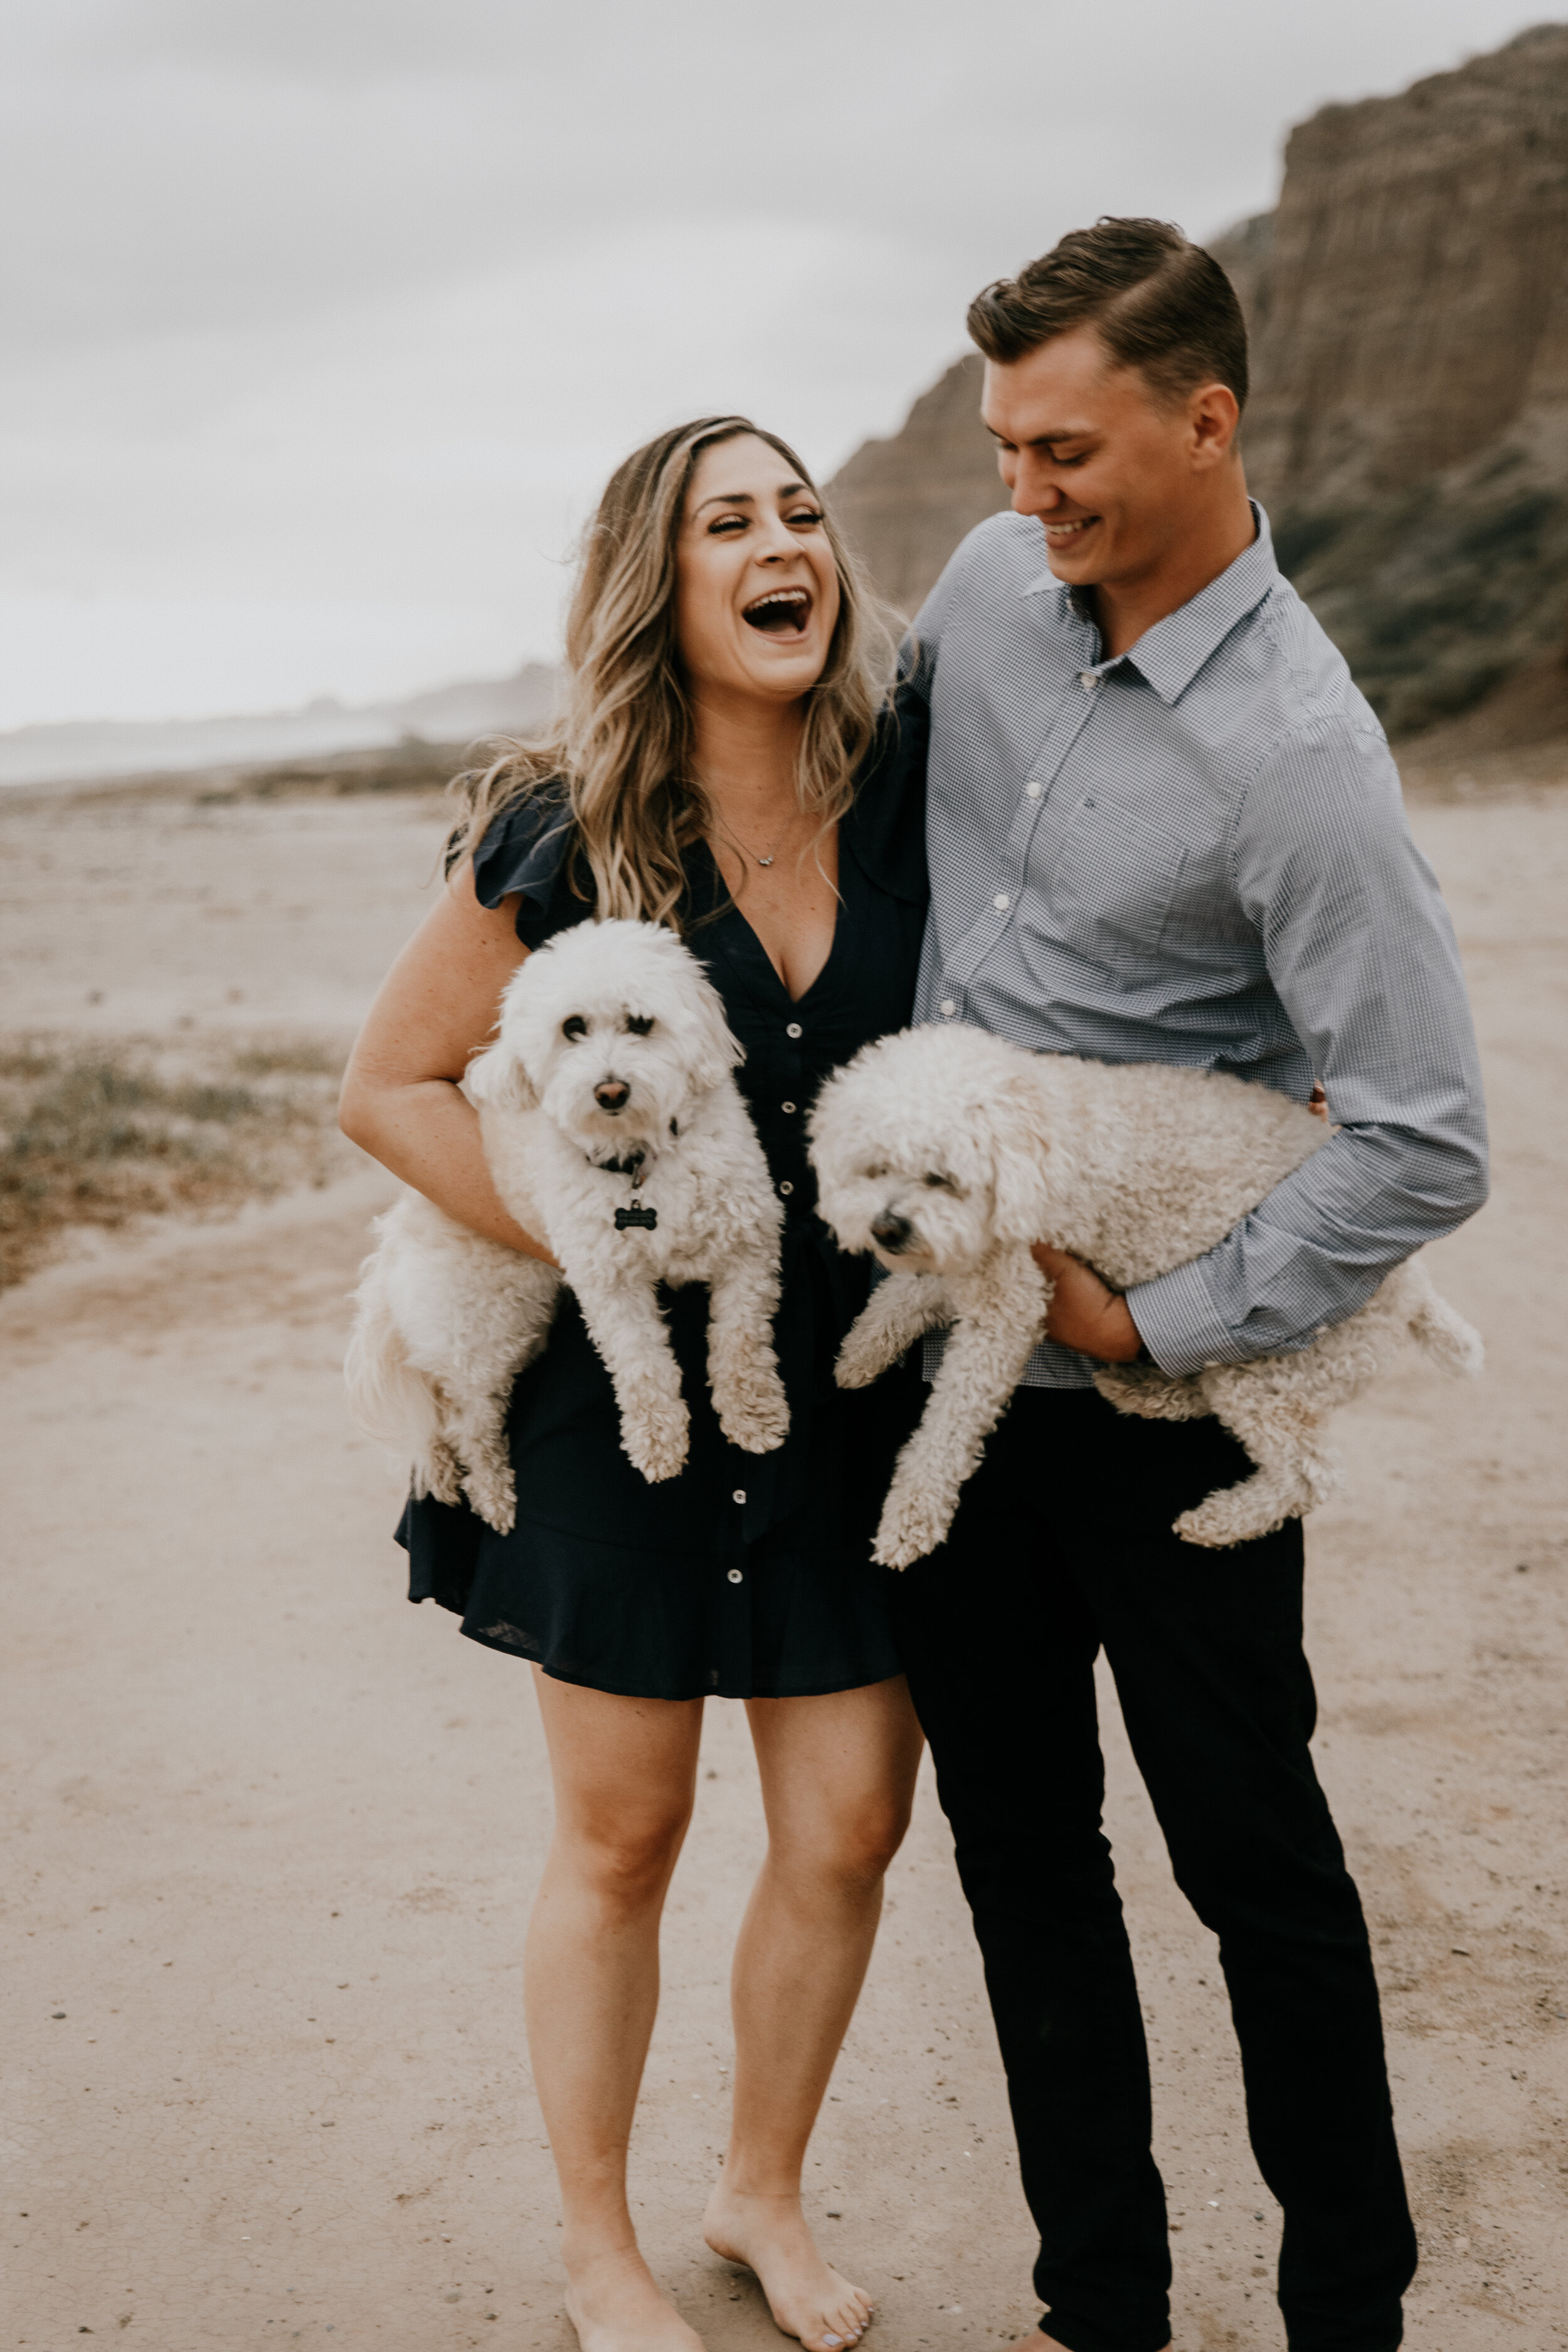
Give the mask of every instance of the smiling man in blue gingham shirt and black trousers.
[{"label": "smiling man in blue gingham shirt and black trousers", "polygon": [[[1458,950],[1382,729],[1281,579],[1237,426],[1246,329],[1159,221],[1063,238],[969,313],[1013,510],[914,623],[931,701],[919,1021],[1232,1070],[1333,1138],[1206,1258],[1117,1298],[1041,1249],[1037,1350],[900,1639],[976,1933],[1044,2343],[1161,2352],[1164,2187],[1110,1846],[1105,1649],[1175,1877],[1220,1938],[1291,2352],[1392,2352],[1415,2237],[1356,1889],[1312,1771],[1302,1531],[1171,1534],[1248,1472],[1091,1359],[1302,1348],[1486,1197]],[[1027,2345],[1039,2352],[1041,2336]]]}]

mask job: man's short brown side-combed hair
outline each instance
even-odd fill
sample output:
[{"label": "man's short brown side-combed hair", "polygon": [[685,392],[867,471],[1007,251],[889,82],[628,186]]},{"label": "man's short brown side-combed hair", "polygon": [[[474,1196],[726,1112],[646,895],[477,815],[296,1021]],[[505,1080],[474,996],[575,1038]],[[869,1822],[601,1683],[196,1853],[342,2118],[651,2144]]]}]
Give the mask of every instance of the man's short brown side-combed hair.
[{"label": "man's short brown side-combed hair", "polygon": [[969,306],[969,334],[1006,365],[1072,327],[1093,327],[1119,367],[1161,400],[1227,383],[1246,407],[1246,322],[1220,263],[1171,221],[1072,228]]}]

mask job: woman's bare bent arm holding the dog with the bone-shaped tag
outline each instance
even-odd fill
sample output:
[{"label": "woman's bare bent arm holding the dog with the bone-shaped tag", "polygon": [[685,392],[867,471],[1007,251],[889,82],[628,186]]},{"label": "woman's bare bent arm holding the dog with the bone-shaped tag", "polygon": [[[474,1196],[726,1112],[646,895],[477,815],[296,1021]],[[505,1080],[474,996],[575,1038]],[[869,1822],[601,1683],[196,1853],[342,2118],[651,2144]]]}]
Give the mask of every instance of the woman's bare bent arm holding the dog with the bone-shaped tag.
[{"label": "woman's bare bent arm holding the dog with the bone-shaped tag", "polygon": [[480,1117],[458,1094],[470,1054],[496,1025],[501,990],[529,953],[515,915],[515,898],[480,906],[463,858],[381,983],[348,1056],[339,1124],[461,1225],[555,1263],[501,1207]]}]

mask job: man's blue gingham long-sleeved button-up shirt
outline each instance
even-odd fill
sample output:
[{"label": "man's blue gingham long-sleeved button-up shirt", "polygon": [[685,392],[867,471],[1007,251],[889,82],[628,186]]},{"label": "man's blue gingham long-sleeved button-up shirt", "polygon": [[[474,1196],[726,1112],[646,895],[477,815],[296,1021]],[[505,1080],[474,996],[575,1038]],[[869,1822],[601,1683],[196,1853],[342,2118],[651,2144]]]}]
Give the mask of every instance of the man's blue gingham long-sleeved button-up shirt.
[{"label": "man's blue gingham long-sleeved button-up shirt", "polygon": [[[1319,1080],[1338,1134],[1218,1249],[1128,1291],[1171,1374],[1305,1348],[1486,1200],[1465,978],[1385,734],[1274,564],[1103,659],[1041,524],[992,515],[914,621],[931,701],[917,1021],[1041,1054]],[[1086,1388],[1041,1343],[1027,1383]]]}]

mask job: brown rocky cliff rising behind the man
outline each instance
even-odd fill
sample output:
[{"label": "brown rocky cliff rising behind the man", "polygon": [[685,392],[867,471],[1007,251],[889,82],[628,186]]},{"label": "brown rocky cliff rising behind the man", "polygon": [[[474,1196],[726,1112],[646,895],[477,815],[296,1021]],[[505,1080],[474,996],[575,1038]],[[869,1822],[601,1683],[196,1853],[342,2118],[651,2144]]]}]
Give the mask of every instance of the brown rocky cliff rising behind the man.
[{"label": "brown rocky cliff rising behind the man", "polygon": [[[1326,106],[1213,252],[1253,336],[1248,477],[1389,729],[1490,696],[1568,729],[1568,26]],[[832,485],[905,612],[1004,503],[976,390],[957,362]]]}]

